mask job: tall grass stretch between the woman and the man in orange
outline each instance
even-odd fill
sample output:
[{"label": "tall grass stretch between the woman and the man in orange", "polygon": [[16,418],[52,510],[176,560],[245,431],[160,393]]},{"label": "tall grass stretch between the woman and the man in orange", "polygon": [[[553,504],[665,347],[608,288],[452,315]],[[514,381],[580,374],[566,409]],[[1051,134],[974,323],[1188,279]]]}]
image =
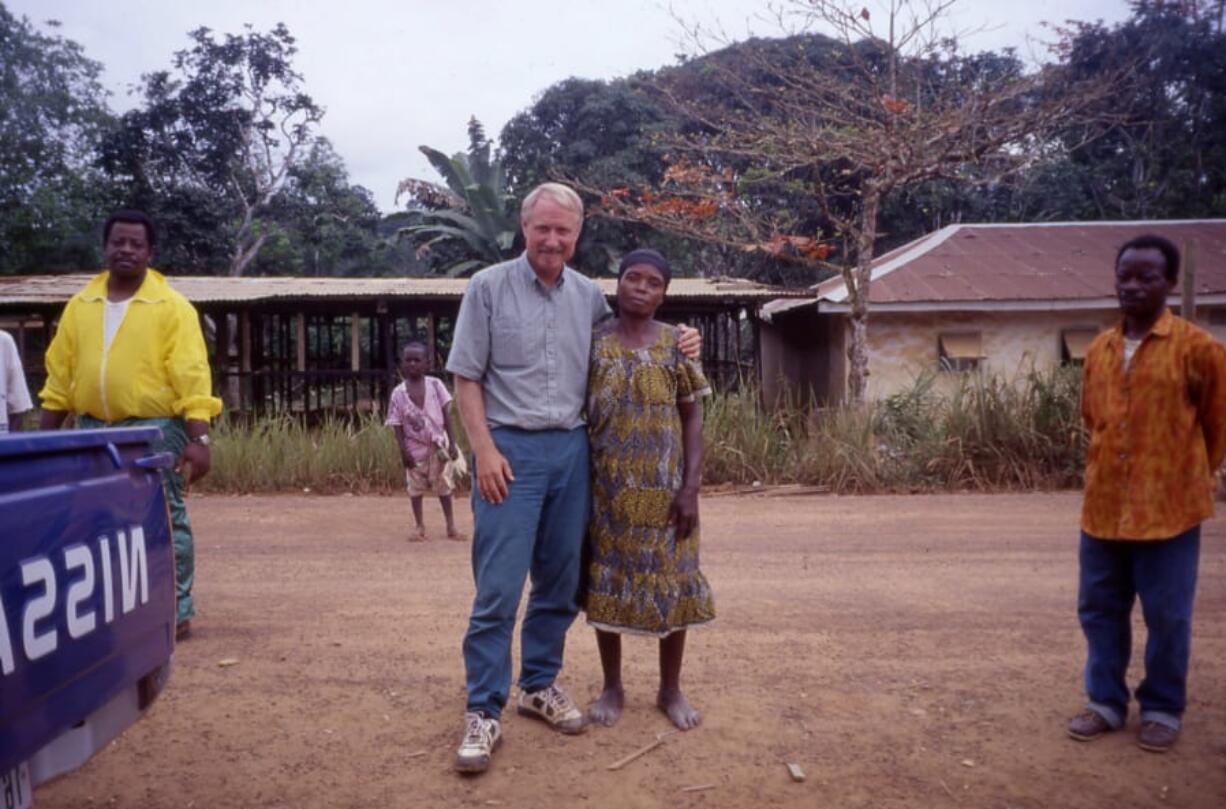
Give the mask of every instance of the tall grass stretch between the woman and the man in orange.
[{"label": "tall grass stretch between the woman and the man in orange", "polygon": [[766,412],[756,391],[717,395],[706,408],[704,479],[836,492],[1076,485],[1079,397],[1073,369],[1014,380],[932,374],[862,407],[792,401]]}]

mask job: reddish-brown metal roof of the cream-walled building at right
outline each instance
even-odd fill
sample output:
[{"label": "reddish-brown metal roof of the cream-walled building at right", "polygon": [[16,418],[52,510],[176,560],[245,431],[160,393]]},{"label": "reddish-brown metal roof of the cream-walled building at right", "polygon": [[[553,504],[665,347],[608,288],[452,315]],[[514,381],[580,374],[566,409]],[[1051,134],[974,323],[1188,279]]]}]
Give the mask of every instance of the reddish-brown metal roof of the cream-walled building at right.
[{"label": "reddish-brown metal roof of the cream-walled building at right", "polygon": [[[1143,233],[1197,241],[1197,293],[1226,293],[1226,219],[951,224],[881,256],[870,305],[1114,298],[1116,251]],[[819,300],[841,304],[831,278]]]}]

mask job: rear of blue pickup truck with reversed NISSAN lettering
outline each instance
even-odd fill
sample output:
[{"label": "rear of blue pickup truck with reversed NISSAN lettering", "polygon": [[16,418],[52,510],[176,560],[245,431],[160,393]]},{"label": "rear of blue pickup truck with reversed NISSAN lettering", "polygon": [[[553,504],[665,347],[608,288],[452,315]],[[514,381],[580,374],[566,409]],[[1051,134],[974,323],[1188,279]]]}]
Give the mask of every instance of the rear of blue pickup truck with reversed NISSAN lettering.
[{"label": "rear of blue pickup truck with reversed NISSAN lettering", "polygon": [[[174,558],[157,428],[0,438],[0,776],[80,766],[161,690]],[[27,765],[28,762],[28,765]],[[11,788],[6,781],[4,786]]]}]

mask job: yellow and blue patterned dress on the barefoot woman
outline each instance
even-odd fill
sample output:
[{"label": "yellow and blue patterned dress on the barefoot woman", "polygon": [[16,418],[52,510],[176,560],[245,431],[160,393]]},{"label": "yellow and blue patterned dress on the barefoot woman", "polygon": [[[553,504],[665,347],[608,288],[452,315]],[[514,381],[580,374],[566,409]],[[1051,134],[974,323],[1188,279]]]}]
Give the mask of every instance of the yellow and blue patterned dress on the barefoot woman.
[{"label": "yellow and blue patterned dress on the barefoot woman", "polygon": [[585,607],[596,629],[664,637],[715,618],[698,568],[698,528],[677,539],[668,525],[685,471],[677,403],[710,392],[671,326],[649,348],[626,348],[612,327],[592,337]]}]

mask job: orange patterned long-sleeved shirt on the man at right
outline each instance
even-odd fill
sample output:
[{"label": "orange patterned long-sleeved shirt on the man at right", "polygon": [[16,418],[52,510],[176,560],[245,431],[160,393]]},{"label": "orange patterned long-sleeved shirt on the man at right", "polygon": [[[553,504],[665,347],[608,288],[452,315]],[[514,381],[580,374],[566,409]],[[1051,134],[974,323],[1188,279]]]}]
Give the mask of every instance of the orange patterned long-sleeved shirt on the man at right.
[{"label": "orange patterned long-sleeved shirt on the man at right", "polygon": [[1081,530],[1100,539],[1170,539],[1214,514],[1214,473],[1226,454],[1226,346],[1163,311],[1132,364],[1123,363],[1122,325],[1090,343]]}]

